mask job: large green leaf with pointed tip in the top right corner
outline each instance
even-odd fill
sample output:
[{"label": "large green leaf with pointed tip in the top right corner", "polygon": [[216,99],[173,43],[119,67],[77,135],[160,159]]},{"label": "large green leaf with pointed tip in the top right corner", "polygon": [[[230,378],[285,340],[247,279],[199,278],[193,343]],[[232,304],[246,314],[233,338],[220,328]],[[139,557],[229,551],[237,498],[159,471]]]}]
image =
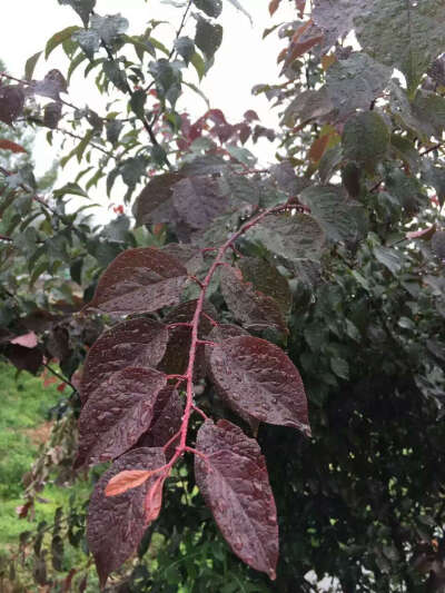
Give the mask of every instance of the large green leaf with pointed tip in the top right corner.
[{"label": "large green leaf with pointed tip in the top right corner", "polygon": [[369,0],[355,20],[363,50],[400,70],[409,91],[445,47],[443,0]]}]

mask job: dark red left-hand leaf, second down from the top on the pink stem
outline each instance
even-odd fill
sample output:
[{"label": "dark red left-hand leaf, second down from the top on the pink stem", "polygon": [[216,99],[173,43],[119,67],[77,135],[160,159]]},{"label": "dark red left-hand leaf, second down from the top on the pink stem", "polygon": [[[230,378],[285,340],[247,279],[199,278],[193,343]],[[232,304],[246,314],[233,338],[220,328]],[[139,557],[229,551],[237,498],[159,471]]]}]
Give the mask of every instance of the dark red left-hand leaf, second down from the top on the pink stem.
[{"label": "dark red left-hand leaf, second down from the top on the pink stem", "polygon": [[128,366],[158,366],[167,340],[167,327],[154,319],[129,319],[105,332],[91,346],[85,362],[80,385],[82,403],[110,373]]}]

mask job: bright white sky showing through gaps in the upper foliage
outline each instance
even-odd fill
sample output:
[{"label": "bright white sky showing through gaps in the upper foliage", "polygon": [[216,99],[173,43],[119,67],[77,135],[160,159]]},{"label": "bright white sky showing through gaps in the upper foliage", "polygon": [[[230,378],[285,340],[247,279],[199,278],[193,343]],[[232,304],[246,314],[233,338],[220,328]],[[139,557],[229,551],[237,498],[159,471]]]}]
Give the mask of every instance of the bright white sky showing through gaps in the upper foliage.
[{"label": "bright white sky showing through gaps in the upper foliage", "polygon": [[[224,0],[224,10],[218,22],[224,27],[222,46],[216,53],[216,63],[202,80],[200,88],[210,100],[211,107],[221,109],[230,122],[239,121],[247,109],[255,109],[266,127],[276,127],[278,113],[271,111],[264,96],[251,96],[251,88],[261,82],[276,82],[278,67],[276,58],[284,41],[271,33],[265,40],[261,39],[265,28],[276,22],[285,22],[295,19],[296,12],[293,4],[281,2],[283,7],[269,17],[269,0],[239,0],[244,8],[251,14],[254,24],[248,18],[236,10],[228,0]],[[166,20],[174,24],[160,26],[154,32],[159,40],[168,43],[172,33],[178,28],[182,10],[162,3],[161,0],[98,0],[96,11],[103,14],[120,12],[130,21],[128,33],[139,34],[144,32],[146,23],[150,19]],[[72,24],[80,24],[79,17],[68,6],[59,6],[57,0],[13,0],[8,2],[8,8],[2,11],[0,22],[0,58],[7,63],[8,70],[17,76],[23,76],[26,60],[44,48],[47,40],[57,31]],[[189,20],[186,29],[190,37],[194,36],[195,19]],[[168,47],[168,46],[167,46]],[[34,72],[34,78],[43,78],[44,73],[59,68],[67,71],[67,60],[59,47],[50,56],[48,62],[41,57]],[[69,100],[82,107],[88,103],[100,115],[106,113],[103,98],[93,92],[95,75],[87,80],[82,77],[85,66],[80,66],[77,75],[71,79]],[[192,67],[186,79],[197,83],[197,77]],[[117,91],[117,96],[119,92]],[[202,99],[190,90],[179,103],[180,108],[187,108],[192,115],[199,116],[206,110]],[[46,130],[39,132],[36,144],[34,160],[38,174],[49,168],[57,156],[56,149],[50,149],[44,141]],[[267,140],[260,140],[257,155],[263,161],[274,160],[274,147]],[[72,180],[76,168],[67,167],[61,175],[60,181]],[[101,190],[101,192],[103,192]],[[96,197],[102,201],[99,197]]]}]

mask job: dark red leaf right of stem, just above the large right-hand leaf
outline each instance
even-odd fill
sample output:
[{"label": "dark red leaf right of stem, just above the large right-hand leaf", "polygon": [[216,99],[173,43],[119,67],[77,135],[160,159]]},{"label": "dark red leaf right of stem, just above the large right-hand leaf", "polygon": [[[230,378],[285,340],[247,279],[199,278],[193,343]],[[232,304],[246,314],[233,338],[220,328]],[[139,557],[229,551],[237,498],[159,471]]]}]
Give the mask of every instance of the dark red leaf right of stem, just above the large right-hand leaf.
[{"label": "dark red leaf right of stem, just above the large right-hand leaf", "polygon": [[250,332],[273,328],[287,332],[278,304],[244,281],[241,270],[225,266],[220,273],[221,293],[236,319]]}]

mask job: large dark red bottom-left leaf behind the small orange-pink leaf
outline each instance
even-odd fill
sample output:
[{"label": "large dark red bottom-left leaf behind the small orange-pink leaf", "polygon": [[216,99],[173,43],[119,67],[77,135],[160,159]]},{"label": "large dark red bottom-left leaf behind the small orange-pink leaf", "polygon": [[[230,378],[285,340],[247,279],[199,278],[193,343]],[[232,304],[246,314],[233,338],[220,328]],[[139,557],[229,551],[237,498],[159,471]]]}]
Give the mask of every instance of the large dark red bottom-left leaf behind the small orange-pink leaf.
[{"label": "large dark red bottom-left leaf behind the small orange-pink leaf", "polygon": [[148,525],[145,498],[158,476],[117,496],[106,496],[107,484],[123,471],[152,471],[165,464],[161,448],[134,449],[119,457],[97,483],[88,507],[87,540],[101,587],[108,575],[136,552]]}]

